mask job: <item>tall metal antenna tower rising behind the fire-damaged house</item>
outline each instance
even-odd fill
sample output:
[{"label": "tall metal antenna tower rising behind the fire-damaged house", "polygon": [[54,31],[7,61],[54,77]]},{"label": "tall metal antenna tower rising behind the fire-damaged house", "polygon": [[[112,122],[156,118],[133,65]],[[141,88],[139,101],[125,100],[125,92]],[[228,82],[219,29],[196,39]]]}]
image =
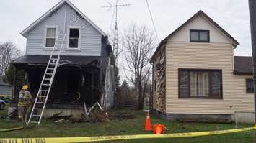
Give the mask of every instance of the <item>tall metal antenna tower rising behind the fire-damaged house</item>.
[{"label": "tall metal antenna tower rising behind the fire-damaged house", "polygon": [[[114,35],[114,41],[113,41],[113,53],[115,57],[115,63],[118,63],[118,55],[120,52],[118,51],[118,7],[120,6],[130,6],[130,4],[118,4],[118,0],[116,0],[115,4],[112,5],[108,3],[109,6],[102,6],[104,8],[111,9],[112,7],[115,8],[115,35]],[[111,30],[111,29],[110,29]]]}]

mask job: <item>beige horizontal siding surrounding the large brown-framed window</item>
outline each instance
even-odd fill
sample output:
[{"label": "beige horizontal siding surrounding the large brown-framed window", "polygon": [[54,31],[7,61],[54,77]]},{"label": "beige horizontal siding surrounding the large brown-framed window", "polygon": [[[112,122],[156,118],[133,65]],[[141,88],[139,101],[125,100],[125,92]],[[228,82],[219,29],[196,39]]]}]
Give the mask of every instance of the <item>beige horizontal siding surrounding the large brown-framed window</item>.
[{"label": "beige horizontal siding surrounding the large brown-framed window", "polygon": [[[221,42],[174,42],[166,47],[167,114],[234,114],[253,111],[253,94],[245,93],[245,78],[233,74],[233,47]],[[223,99],[178,98],[178,68],[221,69]]]}]

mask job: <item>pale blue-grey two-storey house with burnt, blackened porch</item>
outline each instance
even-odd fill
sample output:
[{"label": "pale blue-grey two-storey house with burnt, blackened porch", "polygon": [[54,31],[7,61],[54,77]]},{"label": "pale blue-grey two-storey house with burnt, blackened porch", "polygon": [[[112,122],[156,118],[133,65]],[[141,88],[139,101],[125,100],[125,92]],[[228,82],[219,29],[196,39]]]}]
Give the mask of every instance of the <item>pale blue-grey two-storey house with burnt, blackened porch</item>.
[{"label": "pale blue-grey two-storey house with burnt, blackened porch", "polygon": [[[12,61],[12,65],[15,73],[25,71],[25,84],[34,98],[40,96],[38,91],[49,92],[44,116],[59,111],[81,114],[79,110],[83,109],[84,103],[92,106],[98,102],[105,108],[112,107],[112,47],[107,34],[70,1],[60,1],[21,34],[27,38],[26,52]],[[45,68],[53,72],[45,72]],[[53,76],[52,80],[50,76]],[[43,83],[47,79],[49,83]],[[22,86],[15,83],[17,77],[14,79],[12,109],[17,106]],[[50,87],[43,89],[43,86]]]}]

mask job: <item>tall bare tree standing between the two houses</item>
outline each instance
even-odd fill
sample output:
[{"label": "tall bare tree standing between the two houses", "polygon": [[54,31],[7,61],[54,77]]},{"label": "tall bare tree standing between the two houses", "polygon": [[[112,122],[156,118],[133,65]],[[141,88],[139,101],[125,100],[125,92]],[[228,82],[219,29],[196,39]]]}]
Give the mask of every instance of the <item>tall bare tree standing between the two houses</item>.
[{"label": "tall bare tree standing between the two houses", "polygon": [[123,57],[126,78],[133,83],[138,95],[138,109],[143,109],[144,83],[148,82],[151,54],[156,44],[154,33],[145,26],[132,24],[123,37]]}]

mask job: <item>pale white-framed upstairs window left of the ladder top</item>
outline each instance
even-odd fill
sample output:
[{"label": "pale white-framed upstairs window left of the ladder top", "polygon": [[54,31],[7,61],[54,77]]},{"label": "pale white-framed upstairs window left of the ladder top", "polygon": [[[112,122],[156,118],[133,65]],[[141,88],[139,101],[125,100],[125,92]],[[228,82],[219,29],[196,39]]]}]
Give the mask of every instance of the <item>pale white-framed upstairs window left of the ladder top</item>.
[{"label": "pale white-framed upstairs window left of the ladder top", "polygon": [[54,47],[56,40],[56,28],[46,28],[45,47]]}]

